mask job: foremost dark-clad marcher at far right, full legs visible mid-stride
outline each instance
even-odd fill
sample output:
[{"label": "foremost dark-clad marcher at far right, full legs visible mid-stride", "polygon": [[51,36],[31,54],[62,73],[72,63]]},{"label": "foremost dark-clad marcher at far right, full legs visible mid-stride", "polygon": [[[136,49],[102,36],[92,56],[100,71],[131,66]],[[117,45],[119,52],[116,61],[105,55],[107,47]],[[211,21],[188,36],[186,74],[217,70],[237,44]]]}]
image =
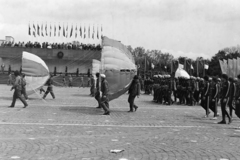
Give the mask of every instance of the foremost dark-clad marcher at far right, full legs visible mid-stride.
[{"label": "foremost dark-clad marcher at far right, full legs visible mid-stride", "polygon": [[226,124],[225,116],[227,115],[230,124],[232,122],[231,116],[227,112],[227,104],[229,102],[229,90],[230,90],[230,82],[228,81],[228,76],[226,74],[222,75],[223,84],[222,84],[222,98],[221,98],[221,110],[222,110],[222,121],[218,122],[218,124]]}]

